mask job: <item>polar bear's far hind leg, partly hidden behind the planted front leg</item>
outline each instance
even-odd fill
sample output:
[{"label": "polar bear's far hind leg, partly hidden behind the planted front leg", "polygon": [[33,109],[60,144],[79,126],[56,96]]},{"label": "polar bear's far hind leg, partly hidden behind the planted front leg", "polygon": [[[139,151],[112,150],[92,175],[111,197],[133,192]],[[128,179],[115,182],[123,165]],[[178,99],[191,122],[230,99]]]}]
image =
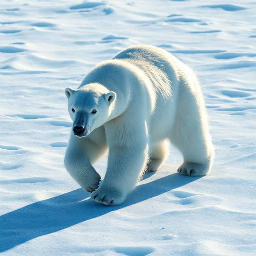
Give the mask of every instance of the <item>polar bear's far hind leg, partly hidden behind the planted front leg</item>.
[{"label": "polar bear's far hind leg, partly hidden behind the planted front leg", "polygon": [[157,171],[165,162],[168,154],[168,143],[166,140],[154,143],[149,154],[149,162],[146,172]]}]

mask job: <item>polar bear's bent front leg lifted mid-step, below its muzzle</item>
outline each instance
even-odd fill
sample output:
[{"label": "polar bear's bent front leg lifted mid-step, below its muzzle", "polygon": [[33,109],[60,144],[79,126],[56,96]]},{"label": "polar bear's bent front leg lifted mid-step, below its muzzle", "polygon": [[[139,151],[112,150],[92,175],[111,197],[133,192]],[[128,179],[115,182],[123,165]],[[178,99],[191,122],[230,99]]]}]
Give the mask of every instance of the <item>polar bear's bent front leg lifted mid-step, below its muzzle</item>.
[{"label": "polar bear's bent front leg lifted mid-step, below its muzzle", "polygon": [[71,135],[64,165],[73,179],[88,192],[93,192],[99,187],[101,176],[91,163],[105,150],[105,147],[99,147],[86,138],[77,138]]}]

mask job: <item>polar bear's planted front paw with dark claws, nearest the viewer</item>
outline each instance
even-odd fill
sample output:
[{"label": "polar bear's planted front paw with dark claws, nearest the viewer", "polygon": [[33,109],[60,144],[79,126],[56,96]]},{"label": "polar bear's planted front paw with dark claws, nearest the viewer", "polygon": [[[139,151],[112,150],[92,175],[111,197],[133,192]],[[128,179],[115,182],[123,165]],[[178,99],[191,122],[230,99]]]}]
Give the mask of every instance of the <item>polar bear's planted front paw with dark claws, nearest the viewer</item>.
[{"label": "polar bear's planted front paw with dark claws, nearest the viewer", "polygon": [[96,191],[93,192],[91,199],[97,203],[105,204],[108,206],[115,206],[123,203],[126,199],[126,196],[124,196],[115,188],[111,189],[99,187]]}]

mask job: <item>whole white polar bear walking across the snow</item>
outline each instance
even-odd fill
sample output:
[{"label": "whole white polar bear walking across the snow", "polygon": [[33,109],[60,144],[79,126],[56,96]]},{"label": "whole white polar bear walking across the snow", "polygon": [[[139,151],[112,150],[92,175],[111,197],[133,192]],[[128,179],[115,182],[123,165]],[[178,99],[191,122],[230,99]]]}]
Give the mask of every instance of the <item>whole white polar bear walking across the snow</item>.
[{"label": "whole white polar bear walking across the snow", "polygon": [[[154,46],[131,46],[95,66],[77,90],[66,88],[73,121],[64,164],[91,199],[115,206],[144,172],[165,162],[168,141],[181,151],[179,174],[209,173],[214,149],[193,71]],[[104,181],[92,164],[107,150]]]}]

